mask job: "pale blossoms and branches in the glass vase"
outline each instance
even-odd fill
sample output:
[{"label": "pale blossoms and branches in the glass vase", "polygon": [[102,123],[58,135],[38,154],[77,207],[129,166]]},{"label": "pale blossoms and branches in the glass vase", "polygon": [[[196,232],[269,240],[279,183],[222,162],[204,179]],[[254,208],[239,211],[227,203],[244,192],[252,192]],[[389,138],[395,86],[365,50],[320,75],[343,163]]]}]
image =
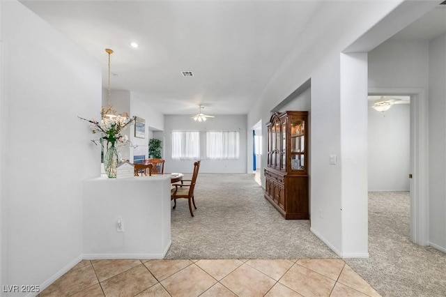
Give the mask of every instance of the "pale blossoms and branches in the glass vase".
[{"label": "pale blossoms and branches in the glass vase", "polygon": [[[102,136],[100,139],[106,139],[107,142],[114,144],[115,142],[121,142],[127,144],[128,136],[121,135],[121,132],[127,129],[128,125],[134,122],[135,117],[126,118],[123,116],[103,117],[100,121],[95,119],[87,120],[78,116],[79,119],[88,121],[90,123],[91,132],[93,134],[100,133]],[[91,139],[94,144],[99,139]]]}]

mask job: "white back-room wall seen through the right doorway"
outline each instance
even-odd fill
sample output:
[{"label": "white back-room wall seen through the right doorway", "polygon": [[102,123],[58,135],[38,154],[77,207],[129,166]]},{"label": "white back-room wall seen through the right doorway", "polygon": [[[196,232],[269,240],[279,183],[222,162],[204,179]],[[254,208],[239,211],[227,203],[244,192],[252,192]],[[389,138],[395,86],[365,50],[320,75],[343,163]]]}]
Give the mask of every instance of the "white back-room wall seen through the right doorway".
[{"label": "white back-room wall seen through the right doorway", "polygon": [[369,191],[409,190],[410,105],[397,104],[386,112],[369,108]]}]

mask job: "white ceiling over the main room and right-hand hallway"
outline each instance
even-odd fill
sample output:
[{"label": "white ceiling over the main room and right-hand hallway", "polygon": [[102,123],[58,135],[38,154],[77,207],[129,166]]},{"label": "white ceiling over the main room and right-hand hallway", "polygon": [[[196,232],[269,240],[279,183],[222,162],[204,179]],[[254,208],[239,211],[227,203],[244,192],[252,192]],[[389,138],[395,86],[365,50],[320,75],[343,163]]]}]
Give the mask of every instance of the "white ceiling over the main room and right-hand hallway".
[{"label": "white ceiling over the main room and right-hand hallway", "polygon": [[[111,89],[130,90],[163,114],[196,114],[199,105],[205,114],[247,114],[323,3],[21,2],[100,61],[103,86],[105,48],[114,50]],[[445,11],[394,38],[432,38],[442,26],[446,32]],[[194,76],[183,77],[182,71]]]}]

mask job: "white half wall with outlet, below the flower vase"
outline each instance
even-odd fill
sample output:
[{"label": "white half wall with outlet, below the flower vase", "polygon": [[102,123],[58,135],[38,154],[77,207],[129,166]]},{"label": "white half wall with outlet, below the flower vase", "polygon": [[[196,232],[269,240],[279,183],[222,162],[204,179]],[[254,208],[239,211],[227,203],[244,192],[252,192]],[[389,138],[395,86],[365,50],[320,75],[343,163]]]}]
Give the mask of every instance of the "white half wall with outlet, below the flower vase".
[{"label": "white half wall with outlet, below the flower vase", "polygon": [[171,176],[84,181],[83,259],[162,259],[171,245]]}]

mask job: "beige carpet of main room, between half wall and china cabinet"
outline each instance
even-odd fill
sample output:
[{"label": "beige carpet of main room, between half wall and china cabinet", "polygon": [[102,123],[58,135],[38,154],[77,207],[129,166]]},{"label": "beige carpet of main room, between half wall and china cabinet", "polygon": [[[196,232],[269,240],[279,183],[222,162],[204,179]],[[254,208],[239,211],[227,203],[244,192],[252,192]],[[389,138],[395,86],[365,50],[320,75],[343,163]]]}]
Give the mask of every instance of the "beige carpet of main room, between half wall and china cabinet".
[{"label": "beige carpet of main room, between half wall and china cabinet", "polygon": [[177,199],[167,259],[339,258],[309,220],[284,220],[252,174],[199,174],[195,202],[192,218],[187,199]]}]

